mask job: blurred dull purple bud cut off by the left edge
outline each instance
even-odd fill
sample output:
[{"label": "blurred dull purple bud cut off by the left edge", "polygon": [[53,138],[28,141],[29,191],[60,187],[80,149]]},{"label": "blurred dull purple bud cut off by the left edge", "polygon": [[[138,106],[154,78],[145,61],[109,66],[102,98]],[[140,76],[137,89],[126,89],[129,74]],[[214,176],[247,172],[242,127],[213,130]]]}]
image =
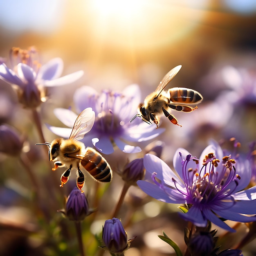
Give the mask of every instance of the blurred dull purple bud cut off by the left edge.
[{"label": "blurred dull purple bud cut off by the left edge", "polygon": [[0,126],[0,152],[7,155],[20,155],[24,139],[16,129],[6,124]]}]

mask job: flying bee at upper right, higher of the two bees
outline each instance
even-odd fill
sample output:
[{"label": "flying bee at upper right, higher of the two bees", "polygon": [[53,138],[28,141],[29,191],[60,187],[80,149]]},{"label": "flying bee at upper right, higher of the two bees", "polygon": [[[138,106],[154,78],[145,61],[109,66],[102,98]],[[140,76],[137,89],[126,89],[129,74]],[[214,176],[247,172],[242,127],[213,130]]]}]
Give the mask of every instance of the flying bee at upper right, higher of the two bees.
[{"label": "flying bee at upper right, higher of the two bees", "polygon": [[181,65],[174,67],[164,76],[157,86],[157,89],[145,98],[144,104],[139,104],[138,114],[135,115],[131,121],[136,117],[141,117],[147,124],[151,124],[151,121],[153,121],[158,128],[160,120],[159,115],[164,113],[173,124],[180,127],[182,126],[178,124],[177,119],[170,114],[170,110],[191,112],[198,107],[195,106],[195,108],[191,108],[186,105],[198,104],[202,101],[203,97],[199,92],[189,88],[175,87],[164,91],[166,85],[180,71],[181,67]]}]

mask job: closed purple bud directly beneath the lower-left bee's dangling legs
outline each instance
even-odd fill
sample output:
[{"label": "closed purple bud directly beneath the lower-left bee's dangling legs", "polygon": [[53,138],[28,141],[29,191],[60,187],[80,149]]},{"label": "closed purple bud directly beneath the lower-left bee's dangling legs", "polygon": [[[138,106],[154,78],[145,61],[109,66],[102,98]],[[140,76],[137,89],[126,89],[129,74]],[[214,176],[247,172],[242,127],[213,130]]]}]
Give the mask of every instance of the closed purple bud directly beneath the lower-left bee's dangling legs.
[{"label": "closed purple bud directly beneath the lower-left bee's dangling legs", "polygon": [[89,209],[85,194],[75,187],[67,197],[65,209],[60,210],[60,212],[69,220],[81,221],[94,211]]}]

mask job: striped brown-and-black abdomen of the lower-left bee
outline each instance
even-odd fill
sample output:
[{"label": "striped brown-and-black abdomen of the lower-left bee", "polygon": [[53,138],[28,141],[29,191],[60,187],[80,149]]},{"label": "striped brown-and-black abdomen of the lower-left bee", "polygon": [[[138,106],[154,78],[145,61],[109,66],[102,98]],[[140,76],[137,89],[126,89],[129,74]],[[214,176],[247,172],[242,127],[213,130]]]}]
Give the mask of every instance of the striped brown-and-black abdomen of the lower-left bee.
[{"label": "striped brown-and-black abdomen of the lower-left bee", "polygon": [[81,165],[94,179],[100,182],[110,182],[112,180],[110,165],[94,148],[86,148],[86,153],[81,160]]}]

